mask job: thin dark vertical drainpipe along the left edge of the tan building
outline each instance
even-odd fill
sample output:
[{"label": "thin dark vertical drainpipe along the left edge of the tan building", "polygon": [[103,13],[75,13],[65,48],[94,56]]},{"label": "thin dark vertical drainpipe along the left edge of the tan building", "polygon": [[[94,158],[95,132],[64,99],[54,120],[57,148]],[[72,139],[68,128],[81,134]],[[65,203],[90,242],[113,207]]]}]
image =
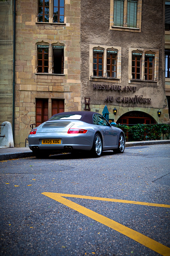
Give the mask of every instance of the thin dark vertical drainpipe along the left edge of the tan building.
[{"label": "thin dark vertical drainpipe along the left edge of the tan building", "polygon": [[15,139],[16,0],[13,0],[13,139]]}]

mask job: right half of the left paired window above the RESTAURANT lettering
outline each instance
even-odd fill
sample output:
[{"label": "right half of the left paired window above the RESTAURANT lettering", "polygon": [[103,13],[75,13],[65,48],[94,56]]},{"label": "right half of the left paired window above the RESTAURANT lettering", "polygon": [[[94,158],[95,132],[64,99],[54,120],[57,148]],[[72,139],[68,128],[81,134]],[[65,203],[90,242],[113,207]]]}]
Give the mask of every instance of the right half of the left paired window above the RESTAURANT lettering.
[{"label": "right half of the left paired window above the RESTAURANT lettering", "polygon": [[116,77],[116,51],[107,51],[107,77]]}]

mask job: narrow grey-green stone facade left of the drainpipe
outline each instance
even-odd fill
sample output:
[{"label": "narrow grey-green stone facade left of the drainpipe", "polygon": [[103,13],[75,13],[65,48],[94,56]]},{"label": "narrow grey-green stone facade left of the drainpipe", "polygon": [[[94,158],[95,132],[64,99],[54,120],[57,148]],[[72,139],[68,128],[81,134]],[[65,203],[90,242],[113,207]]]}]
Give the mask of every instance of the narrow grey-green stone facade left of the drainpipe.
[{"label": "narrow grey-green stone facade left of the drainpipe", "polygon": [[0,59],[0,124],[13,123],[13,0],[0,2]]}]

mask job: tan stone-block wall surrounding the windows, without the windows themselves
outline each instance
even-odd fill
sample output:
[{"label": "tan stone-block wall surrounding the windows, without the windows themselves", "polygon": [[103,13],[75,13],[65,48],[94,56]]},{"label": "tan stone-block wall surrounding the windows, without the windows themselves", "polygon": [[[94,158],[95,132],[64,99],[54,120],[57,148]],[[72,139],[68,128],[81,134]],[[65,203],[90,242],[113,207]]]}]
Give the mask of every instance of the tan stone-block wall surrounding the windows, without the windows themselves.
[{"label": "tan stone-block wall surrounding the windows, without the windows themselves", "polygon": [[[15,145],[25,145],[36,121],[36,98],[63,99],[65,111],[81,110],[80,0],[65,0],[64,24],[39,23],[38,1],[17,1]],[[52,1],[49,2],[52,6]],[[37,44],[49,45],[49,73],[37,73]],[[52,73],[52,44],[64,45],[64,74]],[[49,118],[51,109],[49,109]]]}]

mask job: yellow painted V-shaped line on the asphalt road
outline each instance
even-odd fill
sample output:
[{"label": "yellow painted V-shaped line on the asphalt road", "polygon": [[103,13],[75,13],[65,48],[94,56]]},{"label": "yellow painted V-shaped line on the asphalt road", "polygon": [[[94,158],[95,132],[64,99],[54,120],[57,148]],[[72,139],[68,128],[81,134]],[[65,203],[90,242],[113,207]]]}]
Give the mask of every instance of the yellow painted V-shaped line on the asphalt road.
[{"label": "yellow painted V-shaped line on the asphalt road", "polygon": [[[58,201],[61,204],[64,204],[68,207],[70,207],[71,209],[78,211],[82,214],[84,214],[85,216],[90,217],[93,220],[96,220],[126,236],[128,236],[129,238],[143,244],[144,246],[150,248],[151,250],[154,250],[156,252],[158,252],[159,254],[163,255],[163,256],[169,256],[170,255],[170,248],[166,247],[165,245],[154,241],[153,239],[140,234],[139,232],[130,229],[114,220],[111,220],[101,214],[98,214],[94,211],[91,211],[79,204],[76,204],[64,197],[74,197],[74,198],[83,198],[83,199],[91,199],[91,200],[102,200],[102,201],[109,201],[109,202],[120,202],[120,203],[130,203],[131,204],[138,204],[138,205],[148,205],[148,206],[158,206],[158,207],[170,207],[169,205],[161,205],[161,204],[150,204],[150,203],[143,203],[143,202],[135,202],[135,201],[126,201],[126,200],[116,200],[116,199],[109,199],[109,198],[98,198],[98,197],[86,197],[86,196],[78,196],[78,195],[69,195],[69,194],[59,194],[59,193],[48,193],[48,192],[44,192],[42,193],[43,195],[52,198],[56,201]],[[116,200],[116,201],[115,201]]]}]

